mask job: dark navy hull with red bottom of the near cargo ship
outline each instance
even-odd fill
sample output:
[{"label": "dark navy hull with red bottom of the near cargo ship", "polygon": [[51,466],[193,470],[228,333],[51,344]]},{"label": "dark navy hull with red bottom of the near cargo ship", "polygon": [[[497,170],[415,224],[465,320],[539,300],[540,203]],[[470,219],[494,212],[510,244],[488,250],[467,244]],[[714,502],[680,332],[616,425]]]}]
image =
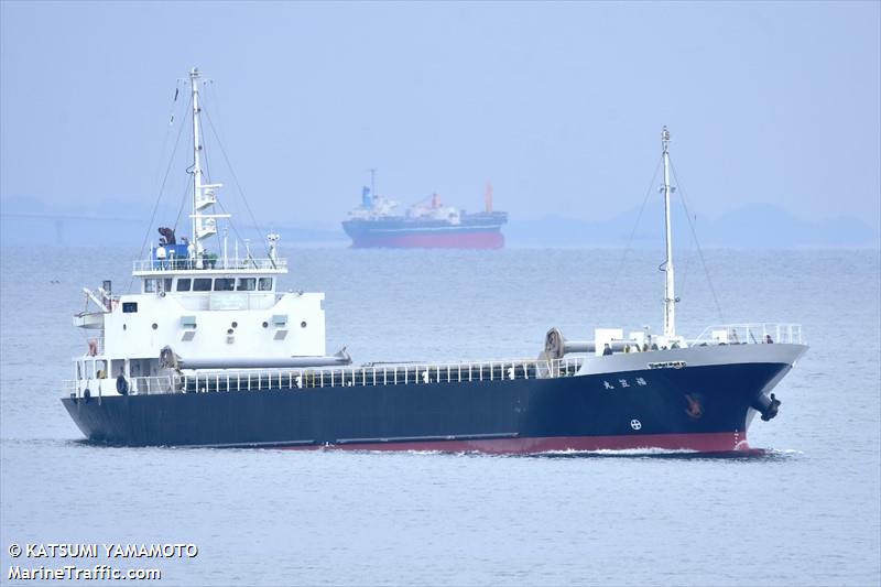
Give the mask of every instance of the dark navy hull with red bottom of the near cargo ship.
[{"label": "dark navy hull with red bottom of the near cargo ship", "polygon": [[719,452],[746,447],[750,405],[788,369],[784,363],[717,365],[63,402],[90,441],[127,446]]}]

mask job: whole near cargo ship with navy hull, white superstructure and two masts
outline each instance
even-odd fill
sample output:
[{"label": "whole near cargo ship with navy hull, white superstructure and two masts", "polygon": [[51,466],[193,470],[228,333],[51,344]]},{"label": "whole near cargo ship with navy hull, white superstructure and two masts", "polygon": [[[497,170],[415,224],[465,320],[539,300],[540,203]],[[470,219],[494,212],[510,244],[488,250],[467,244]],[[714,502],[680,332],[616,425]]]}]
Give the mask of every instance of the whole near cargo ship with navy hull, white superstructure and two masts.
[{"label": "whole near cargo ship with navy hull, white superstructure and two masts", "polygon": [[663,334],[595,328],[591,340],[572,340],[551,328],[535,358],[356,365],[345,347],[326,352],[324,294],[281,286],[287,263],[278,235],[267,237],[265,254],[216,242],[227,233],[218,222],[230,220],[214,211],[221,184],[203,169],[198,69],[189,84],[192,237],[161,229],[159,244],[134,261],[137,291],[116,294],[109,281],[85,289],[91,305],[73,317],[90,336],[62,402],[89,441],[730,453],[749,449],[757,415],[777,416],[773,390],[807,349],[801,326],[726,324],[690,339],[676,331],[666,128]]}]

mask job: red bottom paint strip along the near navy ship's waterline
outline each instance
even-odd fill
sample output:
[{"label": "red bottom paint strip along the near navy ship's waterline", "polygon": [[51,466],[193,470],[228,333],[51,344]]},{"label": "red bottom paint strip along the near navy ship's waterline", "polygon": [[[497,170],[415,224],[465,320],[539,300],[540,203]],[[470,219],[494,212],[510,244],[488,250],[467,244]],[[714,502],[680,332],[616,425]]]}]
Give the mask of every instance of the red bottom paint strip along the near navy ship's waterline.
[{"label": "red bottom paint strip along the near navy ship's waterline", "polygon": [[420,441],[352,443],[327,446],[292,446],[292,449],[329,448],[341,450],[438,450],[444,453],[487,453],[531,455],[566,450],[695,450],[698,453],[749,452],[743,433],[641,434],[627,436],[559,436],[539,438],[475,438],[470,441]]}]

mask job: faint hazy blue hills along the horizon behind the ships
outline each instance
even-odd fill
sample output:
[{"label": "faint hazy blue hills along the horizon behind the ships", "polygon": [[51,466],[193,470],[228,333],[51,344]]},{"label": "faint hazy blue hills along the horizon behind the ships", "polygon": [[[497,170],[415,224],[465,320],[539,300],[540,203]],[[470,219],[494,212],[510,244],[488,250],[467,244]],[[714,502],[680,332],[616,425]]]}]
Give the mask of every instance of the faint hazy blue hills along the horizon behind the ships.
[{"label": "faint hazy blue hills along the horizon behind the ships", "polygon": [[[177,210],[174,210],[175,213]],[[157,241],[152,208],[131,204],[93,203],[88,208],[70,206],[50,208],[25,198],[7,198],[0,206],[0,244],[10,246],[40,240],[47,244],[113,244],[140,247],[146,239]],[[157,214],[156,217],[165,217]],[[639,219],[639,222],[638,222]],[[239,217],[239,220],[241,218]],[[736,249],[792,248],[881,248],[881,235],[858,218],[837,217],[819,221],[801,219],[768,204],[751,204],[718,218],[688,218],[681,207],[674,208],[674,239],[677,247],[693,241],[692,226],[701,247]],[[263,238],[253,227],[237,222],[242,238]],[[313,228],[267,224],[282,242],[345,247],[348,237],[339,228]],[[661,206],[646,206],[623,213],[610,220],[590,221],[562,216],[534,220],[512,217],[502,229],[510,247],[601,247],[662,248],[664,221]],[[178,231],[180,232],[180,231]],[[186,233],[186,230],[183,231]]]}]

